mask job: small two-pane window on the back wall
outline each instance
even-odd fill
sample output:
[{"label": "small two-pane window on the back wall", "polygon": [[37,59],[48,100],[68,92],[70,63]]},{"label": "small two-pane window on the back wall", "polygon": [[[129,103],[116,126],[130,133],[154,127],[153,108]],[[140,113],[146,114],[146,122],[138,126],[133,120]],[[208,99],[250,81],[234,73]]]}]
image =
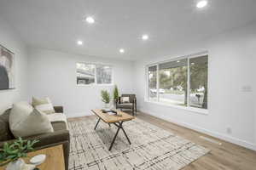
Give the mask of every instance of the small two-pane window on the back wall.
[{"label": "small two-pane window on the back wall", "polygon": [[112,84],[112,66],[77,63],[77,84]]}]

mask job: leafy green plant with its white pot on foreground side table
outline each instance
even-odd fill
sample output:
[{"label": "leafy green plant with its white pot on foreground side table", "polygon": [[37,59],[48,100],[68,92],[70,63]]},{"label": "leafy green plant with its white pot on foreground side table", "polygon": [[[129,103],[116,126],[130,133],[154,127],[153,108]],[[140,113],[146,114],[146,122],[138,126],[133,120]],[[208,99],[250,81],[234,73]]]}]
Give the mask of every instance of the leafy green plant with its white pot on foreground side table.
[{"label": "leafy green plant with its white pot on foreground side table", "polygon": [[13,143],[4,143],[3,148],[0,149],[0,167],[8,164],[6,170],[33,169],[35,166],[26,164],[22,157],[26,157],[28,152],[33,151],[33,145],[36,143],[38,140],[21,138]]}]

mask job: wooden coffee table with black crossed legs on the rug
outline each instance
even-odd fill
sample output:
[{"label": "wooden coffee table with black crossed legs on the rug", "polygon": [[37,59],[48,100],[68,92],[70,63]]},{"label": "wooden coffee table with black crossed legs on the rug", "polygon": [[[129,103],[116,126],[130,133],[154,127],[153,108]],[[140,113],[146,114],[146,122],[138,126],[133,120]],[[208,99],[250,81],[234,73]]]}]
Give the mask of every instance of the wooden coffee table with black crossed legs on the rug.
[{"label": "wooden coffee table with black crossed legs on the rug", "polygon": [[[123,112],[123,111],[117,111],[119,115],[121,116],[113,116],[113,115],[108,115],[108,113],[103,113],[102,110],[100,109],[96,109],[96,110],[91,110],[94,114],[96,114],[96,116],[99,117],[98,121],[96,122],[96,126],[94,127],[94,129],[96,130],[96,127],[98,126],[99,122],[102,120],[103,122],[108,123],[108,125],[110,126],[110,124],[115,125],[116,127],[118,127],[112,143],[109,147],[108,150],[112,149],[113,143],[119,133],[119,130],[122,129],[123,132],[125,133],[125,129],[123,127],[123,122],[127,122],[127,121],[131,121],[132,119],[134,119],[134,116],[128,115],[127,113]],[[131,144],[130,139],[128,138],[127,134],[125,133],[125,137],[128,140],[129,144]]]}]

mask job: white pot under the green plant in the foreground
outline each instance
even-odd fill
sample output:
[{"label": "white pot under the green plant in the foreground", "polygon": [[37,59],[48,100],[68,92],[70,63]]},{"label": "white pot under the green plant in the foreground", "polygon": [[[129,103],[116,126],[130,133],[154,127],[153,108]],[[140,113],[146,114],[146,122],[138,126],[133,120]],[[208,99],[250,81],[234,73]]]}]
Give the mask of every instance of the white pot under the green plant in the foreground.
[{"label": "white pot under the green plant in the foreground", "polygon": [[5,168],[6,170],[33,170],[36,166],[31,164],[26,164],[23,159],[18,159],[16,161],[11,161]]}]

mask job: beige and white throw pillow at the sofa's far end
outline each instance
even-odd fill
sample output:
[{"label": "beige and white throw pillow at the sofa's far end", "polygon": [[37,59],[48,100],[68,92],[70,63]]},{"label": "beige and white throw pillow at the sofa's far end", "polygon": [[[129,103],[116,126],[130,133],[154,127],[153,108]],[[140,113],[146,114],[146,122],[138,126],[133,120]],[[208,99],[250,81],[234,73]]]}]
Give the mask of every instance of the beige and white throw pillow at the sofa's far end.
[{"label": "beige and white throw pillow at the sofa's far end", "polygon": [[32,97],[32,106],[46,114],[55,113],[55,109],[49,98],[37,99]]}]

